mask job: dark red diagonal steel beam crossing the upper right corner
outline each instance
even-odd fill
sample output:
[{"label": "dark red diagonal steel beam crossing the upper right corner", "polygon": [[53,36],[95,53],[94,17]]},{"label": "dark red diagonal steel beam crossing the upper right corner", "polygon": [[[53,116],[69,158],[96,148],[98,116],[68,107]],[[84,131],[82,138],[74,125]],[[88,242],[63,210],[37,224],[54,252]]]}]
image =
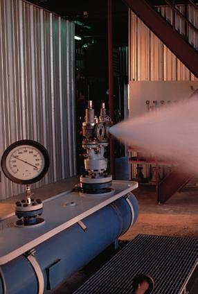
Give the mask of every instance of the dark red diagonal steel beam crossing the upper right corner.
[{"label": "dark red diagonal steel beam crossing the upper right corner", "polygon": [[198,78],[198,52],[177,31],[174,31],[172,26],[147,1],[123,0],[123,2]]}]

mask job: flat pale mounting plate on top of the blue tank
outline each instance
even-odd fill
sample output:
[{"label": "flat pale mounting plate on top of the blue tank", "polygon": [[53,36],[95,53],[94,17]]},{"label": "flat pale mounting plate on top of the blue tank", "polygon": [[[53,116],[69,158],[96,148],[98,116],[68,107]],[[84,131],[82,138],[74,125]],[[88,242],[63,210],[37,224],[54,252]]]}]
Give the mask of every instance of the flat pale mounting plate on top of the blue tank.
[{"label": "flat pale mounting plate on top of the blue tank", "polygon": [[[44,200],[44,223],[39,226],[17,227],[17,216],[11,216],[0,222],[0,265],[15,259],[24,252],[55,236],[67,227],[78,223],[93,212],[125,196],[138,187],[137,182],[113,181],[113,196],[82,197],[76,191],[66,191]],[[74,202],[75,205],[66,205]]]}]

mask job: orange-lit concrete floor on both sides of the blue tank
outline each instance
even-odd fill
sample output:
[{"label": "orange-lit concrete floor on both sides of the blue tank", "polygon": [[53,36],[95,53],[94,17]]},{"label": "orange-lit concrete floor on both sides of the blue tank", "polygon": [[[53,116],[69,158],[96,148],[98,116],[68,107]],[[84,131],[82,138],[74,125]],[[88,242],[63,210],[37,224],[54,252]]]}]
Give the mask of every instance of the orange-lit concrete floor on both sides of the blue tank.
[{"label": "orange-lit concrete floor on both sides of the blue tank", "polygon": [[[33,190],[34,198],[42,200],[63,191],[72,189],[78,177],[69,178],[55,184],[48,184]],[[156,205],[154,186],[140,186],[133,191],[139,203],[139,216],[136,224],[120,237],[132,240],[137,234],[165,236],[188,236],[198,238],[198,188],[184,187],[164,205]],[[0,220],[15,211],[15,202],[24,194],[0,202]]]}]

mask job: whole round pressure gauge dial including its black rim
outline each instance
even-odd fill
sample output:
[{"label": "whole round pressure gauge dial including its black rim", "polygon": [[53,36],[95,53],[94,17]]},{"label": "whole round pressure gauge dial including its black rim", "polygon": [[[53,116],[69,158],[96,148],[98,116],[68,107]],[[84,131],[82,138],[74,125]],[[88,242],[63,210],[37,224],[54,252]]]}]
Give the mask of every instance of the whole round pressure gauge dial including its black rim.
[{"label": "whole round pressure gauge dial including its black rim", "polygon": [[3,173],[17,184],[32,184],[41,180],[49,167],[48,152],[33,140],[21,140],[10,145],[1,158]]}]

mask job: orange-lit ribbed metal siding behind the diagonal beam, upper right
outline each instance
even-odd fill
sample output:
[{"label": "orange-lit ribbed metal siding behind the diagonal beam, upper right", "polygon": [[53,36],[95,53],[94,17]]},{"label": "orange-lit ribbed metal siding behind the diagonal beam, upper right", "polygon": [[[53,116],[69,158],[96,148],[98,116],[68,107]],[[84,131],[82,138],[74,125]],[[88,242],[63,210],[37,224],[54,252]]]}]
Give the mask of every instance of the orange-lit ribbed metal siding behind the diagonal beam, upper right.
[{"label": "orange-lit ribbed metal siding behind the diagonal beam, upper right", "polygon": [[[177,9],[184,12],[185,8],[177,6]],[[172,23],[170,8],[163,6],[158,10]],[[188,19],[198,26],[198,10],[192,6],[188,6]],[[184,33],[181,18],[176,16],[175,22],[176,28]],[[198,49],[198,37],[191,28],[188,39]],[[132,11],[129,11],[129,80],[197,80]]]}]

